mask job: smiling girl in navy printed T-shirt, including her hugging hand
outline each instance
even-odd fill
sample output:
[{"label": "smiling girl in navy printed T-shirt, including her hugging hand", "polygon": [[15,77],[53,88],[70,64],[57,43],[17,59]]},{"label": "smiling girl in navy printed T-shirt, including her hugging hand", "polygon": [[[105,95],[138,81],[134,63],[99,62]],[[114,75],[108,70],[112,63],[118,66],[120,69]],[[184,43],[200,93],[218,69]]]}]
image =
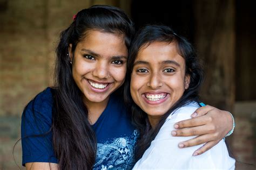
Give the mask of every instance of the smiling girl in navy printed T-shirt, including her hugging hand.
[{"label": "smiling girl in navy printed T-shirt, including her hugging hand", "polygon": [[[22,115],[26,169],[133,167],[138,131],[126,111],[122,92],[133,34],[133,23],[125,13],[106,5],[79,11],[60,34],[55,86],[39,93]],[[175,132],[191,136],[190,131],[197,130],[195,135],[209,144],[197,151],[203,153],[230,131],[232,118],[209,106],[197,113],[198,118],[177,124],[188,129]],[[225,124],[209,122],[209,117],[221,117]],[[190,128],[193,126],[196,129]],[[218,129],[210,131],[210,126]],[[197,139],[184,141],[184,147],[201,144]]]}]

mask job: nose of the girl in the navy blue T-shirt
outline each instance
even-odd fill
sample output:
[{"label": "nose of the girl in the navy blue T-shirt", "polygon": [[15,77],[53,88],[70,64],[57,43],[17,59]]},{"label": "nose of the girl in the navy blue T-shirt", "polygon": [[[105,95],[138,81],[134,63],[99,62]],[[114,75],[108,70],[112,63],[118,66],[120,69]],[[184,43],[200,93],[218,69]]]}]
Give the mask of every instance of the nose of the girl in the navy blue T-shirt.
[{"label": "nose of the girl in the navy blue T-shirt", "polygon": [[109,66],[106,62],[98,62],[92,75],[98,77],[98,79],[108,79],[110,77]]}]

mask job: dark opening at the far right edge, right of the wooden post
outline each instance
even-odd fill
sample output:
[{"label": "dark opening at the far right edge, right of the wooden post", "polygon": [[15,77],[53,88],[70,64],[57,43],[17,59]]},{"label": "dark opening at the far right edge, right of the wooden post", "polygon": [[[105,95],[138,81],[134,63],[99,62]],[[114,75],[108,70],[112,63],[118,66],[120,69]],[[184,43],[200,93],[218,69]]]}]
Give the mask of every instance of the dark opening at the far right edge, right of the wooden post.
[{"label": "dark opening at the far right edge, right of the wooden post", "polygon": [[256,101],[256,1],[235,1],[235,100]]}]

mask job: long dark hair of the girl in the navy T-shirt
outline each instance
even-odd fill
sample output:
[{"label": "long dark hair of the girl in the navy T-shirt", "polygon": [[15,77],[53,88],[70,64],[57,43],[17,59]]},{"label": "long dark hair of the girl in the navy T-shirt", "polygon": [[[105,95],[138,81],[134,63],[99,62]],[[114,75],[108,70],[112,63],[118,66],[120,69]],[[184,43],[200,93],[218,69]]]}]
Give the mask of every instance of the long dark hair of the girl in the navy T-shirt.
[{"label": "long dark hair of the girl in the navy T-shirt", "polygon": [[[79,11],[68,29],[60,34],[56,48],[55,86],[51,89],[52,126],[39,135],[46,136],[52,131],[52,145],[59,169],[92,169],[95,164],[96,134],[87,119],[88,110],[82,100],[82,91],[73,80],[72,65],[67,55],[69,44],[72,44],[73,53],[89,30],[122,35],[128,49],[134,35],[133,23],[126,14],[107,5],[95,5]],[[35,114],[37,111],[33,109],[34,117]],[[40,124],[40,120],[36,121]]]}]

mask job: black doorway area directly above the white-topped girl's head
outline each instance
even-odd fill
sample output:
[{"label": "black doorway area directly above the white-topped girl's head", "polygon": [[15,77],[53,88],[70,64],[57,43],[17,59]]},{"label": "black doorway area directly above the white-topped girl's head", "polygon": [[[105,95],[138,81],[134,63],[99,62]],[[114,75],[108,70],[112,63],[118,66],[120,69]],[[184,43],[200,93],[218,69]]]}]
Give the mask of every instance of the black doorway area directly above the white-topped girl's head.
[{"label": "black doorway area directly above the white-topped girl's head", "polygon": [[131,3],[131,17],[136,29],[145,24],[164,24],[193,42],[192,1],[137,1]]}]

